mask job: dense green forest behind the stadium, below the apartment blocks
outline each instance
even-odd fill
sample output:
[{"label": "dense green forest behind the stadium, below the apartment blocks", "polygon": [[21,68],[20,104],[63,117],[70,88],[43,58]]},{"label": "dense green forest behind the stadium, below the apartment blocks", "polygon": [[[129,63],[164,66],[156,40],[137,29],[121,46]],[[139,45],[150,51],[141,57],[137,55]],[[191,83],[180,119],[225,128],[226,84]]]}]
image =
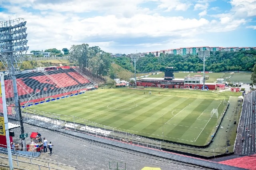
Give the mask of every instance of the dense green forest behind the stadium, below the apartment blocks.
[{"label": "dense green forest behind the stadium, below the apartment blocks", "polygon": [[[112,59],[116,64],[130,71],[134,69],[132,61],[127,57]],[[206,60],[206,71],[252,71],[256,62],[256,50],[221,52],[216,51],[210,54]],[[153,54],[146,55],[138,59],[136,63],[137,72],[150,72],[160,70],[165,67],[174,67],[176,71],[202,71],[203,62],[195,55],[173,55],[163,54],[155,57]]]}]

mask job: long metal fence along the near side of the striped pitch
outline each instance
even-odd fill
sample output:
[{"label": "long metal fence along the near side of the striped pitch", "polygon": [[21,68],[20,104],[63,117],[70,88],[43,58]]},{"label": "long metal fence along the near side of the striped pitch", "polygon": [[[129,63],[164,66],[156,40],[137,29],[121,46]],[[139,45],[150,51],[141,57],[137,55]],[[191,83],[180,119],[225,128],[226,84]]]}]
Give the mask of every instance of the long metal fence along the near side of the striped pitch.
[{"label": "long metal fence along the near side of the striped pitch", "polygon": [[[185,146],[182,144],[175,144],[171,142],[166,142],[162,140],[153,140],[150,138],[142,137],[129,132],[124,132],[122,130],[108,127],[105,125],[100,125],[79,117],[74,117],[70,115],[58,115],[53,113],[46,113],[42,111],[31,110],[25,108],[24,113],[22,113],[24,122],[33,125],[46,127],[52,130],[64,132],[66,128],[74,130],[77,132],[82,132],[85,134],[90,134],[94,136],[100,136],[103,138],[108,138],[112,140],[117,140],[121,142],[127,142],[130,144],[136,144],[148,148],[154,148],[162,150],[164,148],[179,151],[189,154],[195,154],[199,156],[217,156],[220,154],[231,153],[234,151],[234,146],[226,146],[221,148],[209,148],[202,149],[196,147]],[[156,136],[160,138],[161,136]]]}]

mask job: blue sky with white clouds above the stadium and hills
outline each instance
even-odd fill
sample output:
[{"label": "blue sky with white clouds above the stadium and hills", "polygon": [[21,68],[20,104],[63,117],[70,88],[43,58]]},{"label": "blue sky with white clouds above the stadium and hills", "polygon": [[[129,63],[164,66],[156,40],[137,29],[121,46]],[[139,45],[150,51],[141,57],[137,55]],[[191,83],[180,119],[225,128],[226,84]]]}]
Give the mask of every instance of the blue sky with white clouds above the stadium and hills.
[{"label": "blue sky with white clouds above the stadium and hills", "polygon": [[0,0],[31,50],[88,43],[110,53],[256,47],[256,0]]}]

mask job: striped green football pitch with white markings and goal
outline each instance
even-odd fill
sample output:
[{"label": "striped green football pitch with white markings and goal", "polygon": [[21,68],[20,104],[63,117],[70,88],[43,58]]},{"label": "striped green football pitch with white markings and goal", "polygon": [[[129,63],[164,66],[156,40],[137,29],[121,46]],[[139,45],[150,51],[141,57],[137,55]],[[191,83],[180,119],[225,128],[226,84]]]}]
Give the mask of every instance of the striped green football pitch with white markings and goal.
[{"label": "striped green football pitch with white markings and goal", "polygon": [[[164,137],[164,140],[205,145],[222,117],[223,100],[228,101],[230,95],[237,94],[188,89],[98,89],[28,109],[72,115],[161,140]],[[211,117],[212,109],[218,109],[218,119],[216,114]]]}]

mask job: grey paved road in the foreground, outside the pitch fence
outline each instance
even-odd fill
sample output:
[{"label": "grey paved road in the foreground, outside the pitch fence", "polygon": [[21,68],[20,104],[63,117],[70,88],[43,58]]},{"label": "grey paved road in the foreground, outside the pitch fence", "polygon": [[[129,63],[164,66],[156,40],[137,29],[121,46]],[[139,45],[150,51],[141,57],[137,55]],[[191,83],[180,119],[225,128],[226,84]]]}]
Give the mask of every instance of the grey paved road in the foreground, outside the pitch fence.
[{"label": "grey paved road in the foreground, outside the pitch fence", "polygon": [[[9,119],[9,122],[19,122]],[[78,138],[69,134],[61,134],[45,128],[24,124],[25,132],[40,132],[48,142],[54,144],[52,156],[42,154],[42,157],[52,158],[61,163],[77,166],[78,170],[107,170],[109,161],[126,162],[126,170],[140,170],[144,166],[160,167],[162,170],[196,170],[205,169],[173,160],[150,156],[128,149],[118,148],[91,140]],[[20,128],[13,129],[14,142],[20,142]],[[30,138],[26,138],[26,143]],[[49,153],[49,151],[48,151]]]}]

